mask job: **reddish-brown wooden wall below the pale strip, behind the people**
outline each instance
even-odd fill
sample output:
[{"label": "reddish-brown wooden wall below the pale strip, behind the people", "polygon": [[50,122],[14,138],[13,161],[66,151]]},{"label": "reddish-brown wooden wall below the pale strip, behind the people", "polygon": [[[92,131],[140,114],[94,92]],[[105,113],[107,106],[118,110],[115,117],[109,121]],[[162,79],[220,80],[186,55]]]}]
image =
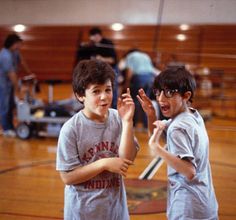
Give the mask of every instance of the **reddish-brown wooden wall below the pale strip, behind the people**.
[{"label": "reddish-brown wooden wall below the pale strip, behind the people", "polygon": [[[19,33],[24,39],[22,53],[40,80],[68,81],[77,46],[88,41],[91,27],[28,25]],[[186,31],[178,25],[126,25],[121,31],[113,31],[109,25],[100,27],[115,43],[119,58],[136,47],[149,53],[159,69],[174,55],[192,67],[222,70],[225,76],[236,77],[236,25],[191,25]],[[11,32],[11,26],[0,26],[0,43]],[[184,34],[186,40],[177,40],[178,34]]]}]

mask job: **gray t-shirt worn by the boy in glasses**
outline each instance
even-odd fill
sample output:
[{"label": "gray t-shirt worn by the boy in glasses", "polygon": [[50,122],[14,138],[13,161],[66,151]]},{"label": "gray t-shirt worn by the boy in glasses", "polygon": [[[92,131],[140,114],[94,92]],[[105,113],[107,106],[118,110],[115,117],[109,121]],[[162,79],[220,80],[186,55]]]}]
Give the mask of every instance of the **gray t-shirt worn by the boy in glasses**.
[{"label": "gray t-shirt worn by the boy in glasses", "polygon": [[167,216],[169,220],[218,219],[208,135],[200,114],[194,109],[191,111],[176,116],[167,129],[168,151],[191,161],[196,168],[196,176],[189,181],[168,167]]}]

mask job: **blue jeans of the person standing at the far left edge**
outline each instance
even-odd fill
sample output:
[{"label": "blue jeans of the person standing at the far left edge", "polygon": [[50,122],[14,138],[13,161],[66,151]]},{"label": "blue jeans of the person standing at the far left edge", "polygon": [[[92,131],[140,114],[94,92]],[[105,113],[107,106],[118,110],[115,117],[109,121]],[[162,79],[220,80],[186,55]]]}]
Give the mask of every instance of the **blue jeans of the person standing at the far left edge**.
[{"label": "blue jeans of the person standing at the far left edge", "polygon": [[0,121],[4,131],[13,130],[13,110],[15,108],[14,89],[0,85]]}]

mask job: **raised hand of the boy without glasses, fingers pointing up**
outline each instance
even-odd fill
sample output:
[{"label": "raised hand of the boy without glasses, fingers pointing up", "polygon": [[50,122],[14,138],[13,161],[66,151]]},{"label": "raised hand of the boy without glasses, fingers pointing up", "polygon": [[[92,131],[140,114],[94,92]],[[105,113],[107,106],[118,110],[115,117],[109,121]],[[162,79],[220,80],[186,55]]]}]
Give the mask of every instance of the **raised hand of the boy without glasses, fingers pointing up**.
[{"label": "raised hand of the boy without glasses, fingers pointing up", "polygon": [[121,95],[118,99],[117,110],[122,121],[132,121],[134,116],[134,102],[130,95],[130,89],[127,88],[127,92]]}]

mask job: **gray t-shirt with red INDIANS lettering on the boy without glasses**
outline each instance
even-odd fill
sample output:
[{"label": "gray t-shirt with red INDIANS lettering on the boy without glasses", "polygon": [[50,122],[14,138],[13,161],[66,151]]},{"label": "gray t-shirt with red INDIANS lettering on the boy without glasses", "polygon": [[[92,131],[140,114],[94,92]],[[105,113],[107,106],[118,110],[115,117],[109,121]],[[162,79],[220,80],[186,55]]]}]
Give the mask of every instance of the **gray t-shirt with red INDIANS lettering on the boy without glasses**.
[{"label": "gray t-shirt with red INDIANS lettering on the boy without glasses", "polygon": [[[118,157],[122,123],[117,110],[109,109],[105,123],[96,123],[82,111],[62,127],[56,169],[70,171],[98,159]],[[129,219],[123,179],[105,171],[78,184],[65,186],[65,220]]]}]

